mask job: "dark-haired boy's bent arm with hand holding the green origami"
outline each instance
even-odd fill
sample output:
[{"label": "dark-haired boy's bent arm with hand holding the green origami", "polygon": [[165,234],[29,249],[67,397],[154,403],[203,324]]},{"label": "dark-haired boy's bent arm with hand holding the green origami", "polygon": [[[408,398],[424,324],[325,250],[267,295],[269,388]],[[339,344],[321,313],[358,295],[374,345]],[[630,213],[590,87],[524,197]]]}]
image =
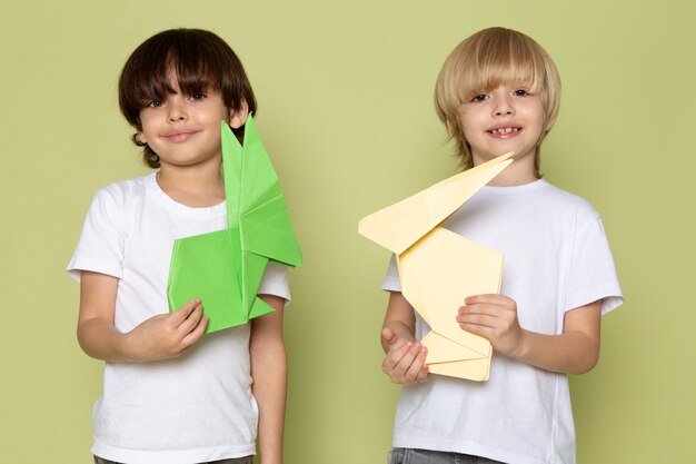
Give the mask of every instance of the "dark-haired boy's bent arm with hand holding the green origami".
[{"label": "dark-haired boy's bent arm with hand holding the green origami", "polygon": [[200,300],[193,299],[122,334],[113,325],[117,289],[117,277],[81,273],[78,342],[91,357],[137,363],[168,359],[181,355],[206,330],[208,318],[202,317]]}]

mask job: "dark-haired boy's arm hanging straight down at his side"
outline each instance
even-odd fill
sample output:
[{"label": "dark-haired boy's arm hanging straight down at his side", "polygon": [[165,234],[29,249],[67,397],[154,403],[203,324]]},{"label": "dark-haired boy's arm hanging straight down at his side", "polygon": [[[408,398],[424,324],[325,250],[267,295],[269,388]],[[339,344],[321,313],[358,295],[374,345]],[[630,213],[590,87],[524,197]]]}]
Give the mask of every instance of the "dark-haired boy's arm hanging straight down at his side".
[{"label": "dark-haired boy's arm hanging straight down at his side", "polygon": [[276,309],[251,319],[251,377],[253,396],[259,405],[259,454],[262,464],[282,463],[282,431],[288,363],[282,339],[285,299],[259,295]]}]

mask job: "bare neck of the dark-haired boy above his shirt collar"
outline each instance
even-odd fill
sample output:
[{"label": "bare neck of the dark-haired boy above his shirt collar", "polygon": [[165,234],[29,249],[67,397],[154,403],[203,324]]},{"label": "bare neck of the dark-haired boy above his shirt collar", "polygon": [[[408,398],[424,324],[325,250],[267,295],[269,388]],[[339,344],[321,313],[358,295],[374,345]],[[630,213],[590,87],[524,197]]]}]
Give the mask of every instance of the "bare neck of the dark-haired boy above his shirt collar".
[{"label": "bare neck of the dark-haired boy above his shirt collar", "polygon": [[215,206],[225,200],[220,162],[187,167],[162,165],[157,182],[171,199],[193,208]]}]

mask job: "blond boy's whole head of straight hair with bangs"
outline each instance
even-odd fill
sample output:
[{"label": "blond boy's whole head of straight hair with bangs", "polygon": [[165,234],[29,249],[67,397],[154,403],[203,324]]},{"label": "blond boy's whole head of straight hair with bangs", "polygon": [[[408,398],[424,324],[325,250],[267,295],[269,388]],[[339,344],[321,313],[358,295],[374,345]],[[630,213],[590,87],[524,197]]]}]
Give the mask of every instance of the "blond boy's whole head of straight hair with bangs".
[{"label": "blond boy's whole head of straight hair with bangs", "polygon": [[[560,106],[560,77],[551,57],[530,37],[505,28],[484,29],[459,43],[445,60],[435,86],[435,107],[457,142],[457,155],[465,169],[473,166],[473,159],[461,128],[461,105],[478,92],[518,82],[530,82],[531,92],[541,98],[545,126],[553,124]],[[548,130],[537,144],[537,175],[541,140]]]}]

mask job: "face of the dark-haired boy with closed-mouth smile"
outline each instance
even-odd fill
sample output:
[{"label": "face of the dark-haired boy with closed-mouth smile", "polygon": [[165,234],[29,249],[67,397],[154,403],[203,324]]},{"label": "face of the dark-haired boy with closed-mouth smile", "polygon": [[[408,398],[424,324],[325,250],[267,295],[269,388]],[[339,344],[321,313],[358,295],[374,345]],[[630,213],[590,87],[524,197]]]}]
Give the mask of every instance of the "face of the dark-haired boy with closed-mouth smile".
[{"label": "face of the dark-haired boy with closed-mouth smile", "polygon": [[[172,79],[176,82],[176,79]],[[216,164],[222,159],[220,121],[231,127],[243,125],[247,112],[230,111],[217,90],[183,95],[178,86],[162,100],[153,100],[140,110],[140,141],[159,156],[161,169]]]}]

